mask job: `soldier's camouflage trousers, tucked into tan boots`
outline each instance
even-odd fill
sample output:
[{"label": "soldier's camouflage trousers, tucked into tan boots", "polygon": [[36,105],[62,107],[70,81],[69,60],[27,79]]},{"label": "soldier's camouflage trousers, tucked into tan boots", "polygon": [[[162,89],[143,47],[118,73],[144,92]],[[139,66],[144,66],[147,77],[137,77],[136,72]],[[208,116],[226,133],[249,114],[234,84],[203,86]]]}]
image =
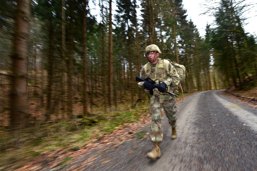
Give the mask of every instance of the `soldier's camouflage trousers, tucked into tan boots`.
[{"label": "soldier's camouflage trousers, tucked into tan boots", "polygon": [[[163,97],[161,97],[163,96]],[[154,99],[153,99],[154,98]],[[161,98],[161,99],[160,99]],[[160,102],[162,101],[162,103]],[[150,97],[150,113],[152,114],[152,122],[150,126],[150,139],[154,141],[162,141],[162,119],[161,108],[163,107],[168,118],[169,124],[172,127],[177,126],[177,106],[176,98],[169,95],[151,96]]]}]

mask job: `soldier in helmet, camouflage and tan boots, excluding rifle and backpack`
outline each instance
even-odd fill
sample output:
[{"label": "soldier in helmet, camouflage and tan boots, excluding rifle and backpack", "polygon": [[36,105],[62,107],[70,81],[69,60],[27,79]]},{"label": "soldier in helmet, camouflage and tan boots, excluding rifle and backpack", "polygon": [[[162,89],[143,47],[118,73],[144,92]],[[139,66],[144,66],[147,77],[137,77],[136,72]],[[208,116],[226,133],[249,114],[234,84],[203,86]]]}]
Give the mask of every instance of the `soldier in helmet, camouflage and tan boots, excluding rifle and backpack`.
[{"label": "soldier in helmet, camouflage and tan boots, excluding rifle and backpack", "polygon": [[[141,69],[139,76],[143,79],[151,78],[158,84],[157,88],[153,82],[139,82],[138,87],[146,93],[153,91],[150,96],[150,113],[152,122],[150,126],[150,139],[153,142],[152,152],[147,154],[148,158],[156,159],[161,157],[159,142],[162,141],[162,120],[161,108],[164,108],[169,124],[172,127],[171,139],[177,138],[176,126],[176,99],[169,95],[166,90],[174,92],[179,84],[179,75],[176,69],[166,59],[159,58],[161,51],[157,45],[149,45],[145,48],[145,56],[149,62]],[[167,89],[166,89],[167,88]]]}]

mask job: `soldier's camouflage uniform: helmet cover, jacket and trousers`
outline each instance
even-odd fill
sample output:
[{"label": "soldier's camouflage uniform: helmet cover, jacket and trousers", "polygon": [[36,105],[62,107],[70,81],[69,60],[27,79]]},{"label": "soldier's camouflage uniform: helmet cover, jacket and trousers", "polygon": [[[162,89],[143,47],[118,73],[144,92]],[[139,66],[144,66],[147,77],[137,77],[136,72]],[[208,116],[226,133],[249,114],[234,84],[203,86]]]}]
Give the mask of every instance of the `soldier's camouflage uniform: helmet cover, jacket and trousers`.
[{"label": "soldier's camouflage uniform: helmet cover, jacket and trousers", "polygon": [[[158,51],[161,53],[158,46],[146,47],[145,52],[150,51]],[[157,47],[158,50],[155,48]],[[158,59],[155,67],[153,64],[148,62],[144,65],[141,69],[139,74],[141,78],[149,77],[155,81],[156,84],[165,82],[168,86],[168,91],[174,92],[177,89],[179,84],[179,75],[176,69],[170,64],[170,62],[166,59]],[[139,82],[137,85],[139,88],[144,89],[143,86],[144,82]],[[149,90],[144,89],[146,93],[149,93]],[[176,118],[176,99],[175,96],[169,95],[168,93],[164,92],[161,93],[157,88],[153,89],[153,95],[150,97],[150,113],[152,114],[152,122],[150,127],[150,138],[151,141],[162,141],[163,131],[162,131],[162,120],[161,120],[161,108],[164,108],[165,114],[168,118],[169,124],[172,127],[177,126],[177,118]]]}]

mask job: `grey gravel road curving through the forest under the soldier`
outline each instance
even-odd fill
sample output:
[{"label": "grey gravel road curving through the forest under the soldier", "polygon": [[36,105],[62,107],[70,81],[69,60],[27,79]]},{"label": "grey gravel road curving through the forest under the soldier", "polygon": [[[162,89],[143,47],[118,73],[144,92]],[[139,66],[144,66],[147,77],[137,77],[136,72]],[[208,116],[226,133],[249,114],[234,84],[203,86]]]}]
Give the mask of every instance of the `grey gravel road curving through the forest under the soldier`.
[{"label": "grey gravel road curving through the forest under the soldier", "polygon": [[[257,170],[257,110],[219,91],[200,92],[178,104],[177,139],[170,139],[163,116],[159,159],[146,158],[149,138],[131,139],[92,149],[73,163],[80,167],[61,170]],[[140,132],[149,132],[149,125]]]}]

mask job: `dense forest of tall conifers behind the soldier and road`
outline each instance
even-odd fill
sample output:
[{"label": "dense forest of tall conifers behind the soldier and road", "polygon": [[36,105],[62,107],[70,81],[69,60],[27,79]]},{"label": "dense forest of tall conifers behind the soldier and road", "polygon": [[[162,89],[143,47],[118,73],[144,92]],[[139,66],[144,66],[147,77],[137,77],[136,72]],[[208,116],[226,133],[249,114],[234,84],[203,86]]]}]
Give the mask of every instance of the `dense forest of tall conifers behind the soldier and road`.
[{"label": "dense forest of tall conifers behind the soldier and road", "polygon": [[[245,13],[255,4],[214,2],[207,9],[215,24],[206,23],[201,37],[182,0],[99,0],[93,6],[88,0],[0,1],[1,129],[44,125],[26,139],[38,144],[49,130],[84,130],[85,138],[85,129],[99,123],[112,131],[136,121],[148,109],[149,95],[135,77],[148,62],[150,44],[160,47],[161,58],[186,67],[179,96],[240,90],[245,81],[257,87],[256,35],[244,30],[251,17]],[[0,149],[6,151],[6,143]]]}]

